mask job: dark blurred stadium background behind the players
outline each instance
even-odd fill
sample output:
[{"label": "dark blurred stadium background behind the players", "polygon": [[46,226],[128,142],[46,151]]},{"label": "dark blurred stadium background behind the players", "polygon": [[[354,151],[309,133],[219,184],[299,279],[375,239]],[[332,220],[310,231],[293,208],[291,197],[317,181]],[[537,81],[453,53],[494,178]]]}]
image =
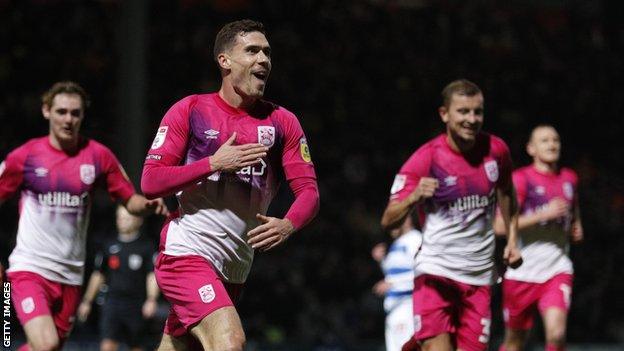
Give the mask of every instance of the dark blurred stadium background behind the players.
[{"label": "dark blurred stadium background behind the players", "polygon": [[[572,343],[624,342],[624,3],[620,1],[11,1],[0,0],[0,158],[45,135],[39,97],[71,79],[92,96],[83,134],[111,147],[138,188],[167,108],[218,89],[212,60],[226,22],[264,22],[273,49],[266,97],[301,120],[321,212],[283,247],[256,256],[241,315],[251,344],[365,348],[383,340],[381,278],[370,249],[394,174],[443,131],[439,92],[481,86],[485,129],[529,162],[531,128],[553,123],[580,176],[586,241],[572,248]],[[287,186],[272,213],[292,199]],[[14,245],[17,200],[0,211],[0,257]],[[157,240],[160,220],[146,232]],[[114,235],[94,204],[90,251]],[[495,288],[498,290],[498,288]],[[498,294],[493,338],[502,335]],[[74,339],[95,336],[92,318]],[[155,327],[159,329],[159,326]],[[540,333],[535,334],[540,338]]]}]

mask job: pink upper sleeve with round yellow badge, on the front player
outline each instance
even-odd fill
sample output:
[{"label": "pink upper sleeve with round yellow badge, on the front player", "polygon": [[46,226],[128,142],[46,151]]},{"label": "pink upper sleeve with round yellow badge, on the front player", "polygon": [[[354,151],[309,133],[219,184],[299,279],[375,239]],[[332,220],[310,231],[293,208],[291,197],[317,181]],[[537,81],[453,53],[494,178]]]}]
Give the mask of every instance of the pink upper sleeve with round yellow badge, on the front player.
[{"label": "pink upper sleeve with round yellow badge, on the front player", "polygon": [[281,121],[284,130],[282,165],[286,180],[290,181],[294,178],[316,179],[308,140],[303,133],[299,120],[295,115],[288,113]]}]

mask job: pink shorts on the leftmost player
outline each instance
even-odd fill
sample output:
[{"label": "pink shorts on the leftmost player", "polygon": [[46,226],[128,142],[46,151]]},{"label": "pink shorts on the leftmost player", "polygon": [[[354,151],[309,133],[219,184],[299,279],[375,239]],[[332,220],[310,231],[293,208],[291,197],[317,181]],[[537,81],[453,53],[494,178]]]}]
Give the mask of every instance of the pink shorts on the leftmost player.
[{"label": "pink shorts on the leftmost player", "polygon": [[20,323],[25,325],[35,317],[52,316],[59,339],[61,342],[67,339],[80,303],[80,286],[54,282],[27,271],[9,272],[7,277]]}]

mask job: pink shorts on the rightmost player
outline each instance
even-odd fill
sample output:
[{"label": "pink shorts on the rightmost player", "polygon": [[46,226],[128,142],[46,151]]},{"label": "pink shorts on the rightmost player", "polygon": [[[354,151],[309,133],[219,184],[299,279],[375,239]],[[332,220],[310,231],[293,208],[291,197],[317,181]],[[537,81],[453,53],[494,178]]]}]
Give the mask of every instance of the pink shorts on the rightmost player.
[{"label": "pink shorts on the rightmost player", "polygon": [[528,330],[533,316],[554,307],[568,311],[572,296],[572,274],[561,273],[543,283],[503,280],[503,317],[510,329]]}]

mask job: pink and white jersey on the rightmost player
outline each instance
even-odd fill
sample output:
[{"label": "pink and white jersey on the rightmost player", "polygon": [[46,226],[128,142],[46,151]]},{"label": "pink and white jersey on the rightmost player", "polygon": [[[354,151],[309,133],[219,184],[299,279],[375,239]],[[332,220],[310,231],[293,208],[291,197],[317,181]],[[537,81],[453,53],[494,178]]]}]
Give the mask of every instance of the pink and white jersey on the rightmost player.
[{"label": "pink and white jersey on the rightmost player", "polygon": [[568,168],[558,173],[541,173],[531,165],[514,171],[513,182],[520,215],[541,211],[554,198],[568,202],[570,212],[564,218],[542,222],[520,232],[518,245],[523,263],[517,269],[508,269],[505,278],[543,283],[559,273],[572,274],[568,238],[574,220],[576,173]]}]

